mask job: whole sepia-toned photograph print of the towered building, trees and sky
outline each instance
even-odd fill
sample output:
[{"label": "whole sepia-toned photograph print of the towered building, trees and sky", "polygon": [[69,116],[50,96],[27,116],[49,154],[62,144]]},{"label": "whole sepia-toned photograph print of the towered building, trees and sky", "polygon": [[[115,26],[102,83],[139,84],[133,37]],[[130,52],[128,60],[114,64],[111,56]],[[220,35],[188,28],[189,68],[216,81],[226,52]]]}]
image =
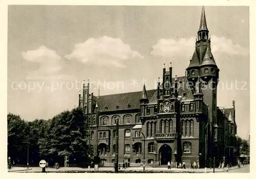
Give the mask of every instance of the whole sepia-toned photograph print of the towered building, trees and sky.
[{"label": "whole sepia-toned photograph print of the towered building, trees and sky", "polygon": [[250,172],[249,5],[7,10],[8,174]]}]

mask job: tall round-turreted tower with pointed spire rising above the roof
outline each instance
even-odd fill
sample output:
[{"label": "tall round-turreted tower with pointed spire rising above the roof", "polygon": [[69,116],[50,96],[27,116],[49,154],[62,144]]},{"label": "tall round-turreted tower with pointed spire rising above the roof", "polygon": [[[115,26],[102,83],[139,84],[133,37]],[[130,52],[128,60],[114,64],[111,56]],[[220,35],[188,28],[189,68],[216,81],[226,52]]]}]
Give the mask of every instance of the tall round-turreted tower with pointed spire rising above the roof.
[{"label": "tall round-turreted tower with pointed spire rising above the roof", "polygon": [[191,82],[191,90],[195,92],[196,82],[201,82],[204,103],[209,106],[209,121],[213,125],[217,119],[217,85],[219,68],[211,53],[209,31],[206,24],[205,10],[202,7],[200,27],[194,54],[186,69],[187,79]]}]

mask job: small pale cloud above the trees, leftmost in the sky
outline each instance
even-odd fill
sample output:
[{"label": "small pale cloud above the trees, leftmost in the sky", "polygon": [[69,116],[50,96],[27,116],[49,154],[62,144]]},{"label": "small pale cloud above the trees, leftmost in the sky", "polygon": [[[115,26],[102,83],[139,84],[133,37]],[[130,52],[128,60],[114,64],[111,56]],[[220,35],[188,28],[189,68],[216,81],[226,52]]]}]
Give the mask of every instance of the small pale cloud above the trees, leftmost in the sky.
[{"label": "small pale cloud above the trees, leftmost in the sky", "polygon": [[61,57],[44,45],[35,50],[23,52],[22,57],[26,61],[39,65],[37,70],[28,72],[28,80],[54,78],[54,75],[61,70]]}]

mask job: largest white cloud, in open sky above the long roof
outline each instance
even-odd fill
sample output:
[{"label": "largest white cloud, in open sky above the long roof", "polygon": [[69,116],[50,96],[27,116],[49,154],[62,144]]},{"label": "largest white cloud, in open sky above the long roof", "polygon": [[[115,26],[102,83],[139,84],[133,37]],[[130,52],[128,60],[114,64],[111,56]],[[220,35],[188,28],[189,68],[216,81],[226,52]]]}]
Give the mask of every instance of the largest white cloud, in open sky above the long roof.
[{"label": "largest white cloud, in open sky above the long roof", "polygon": [[125,68],[125,62],[130,59],[140,59],[142,55],[119,38],[103,36],[76,44],[73,52],[65,58],[91,65]]}]

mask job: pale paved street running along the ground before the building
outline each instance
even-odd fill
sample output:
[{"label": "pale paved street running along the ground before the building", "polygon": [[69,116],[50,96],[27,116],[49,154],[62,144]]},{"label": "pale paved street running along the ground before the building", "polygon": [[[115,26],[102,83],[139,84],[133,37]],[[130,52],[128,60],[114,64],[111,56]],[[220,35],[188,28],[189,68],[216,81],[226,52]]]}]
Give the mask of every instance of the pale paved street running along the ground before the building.
[{"label": "pale paved street running along the ground before the building", "polygon": [[[91,170],[94,170],[94,168],[91,168]],[[111,167],[101,167],[99,168],[100,171],[111,171],[113,170],[114,171],[114,168],[111,168]],[[124,169],[123,169],[124,170]],[[136,171],[142,171],[143,170],[143,167],[131,167],[131,168],[127,168],[125,170],[136,170]],[[172,170],[172,171],[177,171],[177,172],[182,172],[182,171],[196,171],[196,172],[201,172],[203,173],[205,170],[204,168],[199,168],[199,169],[180,169],[180,168],[172,168],[172,169],[167,169],[167,168],[145,168],[145,170],[154,170],[154,171],[164,171],[164,170]],[[39,167],[31,167],[29,168],[29,170],[27,168],[23,168],[23,167],[13,167],[11,169],[12,172],[40,172],[41,171],[41,168]],[[56,171],[55,168],[47,168],[46,171]],[[59,168],[57,171],[88,171],[88,168],[79,168],[79,167],[61,167]],[[208,173],[212,173],[213,172],[213,169],[207,169],[207,172]],[[215,169],[215,172],[227,172],[226,169],[223,170],[223,169],[219,169],[219,168],[216,168]],[[240,169],[237,167],[237,166],[234,166],[232,167],[228,172],[230,173],[248,173],[250,172],[250,166],[244,166],[244,167],[241,167]]]}]

